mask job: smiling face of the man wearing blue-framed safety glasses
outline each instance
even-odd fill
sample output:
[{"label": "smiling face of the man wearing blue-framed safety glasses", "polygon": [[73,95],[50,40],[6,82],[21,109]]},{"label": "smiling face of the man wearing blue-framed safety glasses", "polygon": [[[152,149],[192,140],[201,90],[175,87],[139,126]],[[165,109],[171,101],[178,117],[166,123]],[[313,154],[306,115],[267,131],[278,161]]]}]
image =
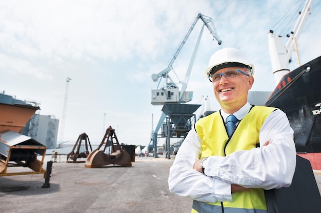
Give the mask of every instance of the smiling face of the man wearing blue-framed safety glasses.
[{"label": "smiling face of the man wearing blue-framed safety glasses", "polygon": [[[244,67],[227,67],[219,69],[215,74],[224,73],[230,69],[239,69],[244,73],[247,70]],[[238,73],[234,78],[228,79],[222,75],[220,80],[212,83],[215,98],[225,112],[234,113],[247,103],[248,91],[251,89],[253,82],[253,76],[248,77],[242,73]]]}]

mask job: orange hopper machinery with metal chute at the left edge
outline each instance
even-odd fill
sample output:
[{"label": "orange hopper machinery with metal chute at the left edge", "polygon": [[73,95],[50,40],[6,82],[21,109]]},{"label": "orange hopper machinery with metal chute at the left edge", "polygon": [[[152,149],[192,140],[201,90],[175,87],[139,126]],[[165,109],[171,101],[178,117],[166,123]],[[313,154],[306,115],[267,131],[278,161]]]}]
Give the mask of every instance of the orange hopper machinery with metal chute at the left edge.
[{"label": "orange hopper machinery with metal chute at the left edge", "polygon": [[[0,103],[0,177],[10,175],[44,174],[43,187],[50,187],[52,161],[43,169],[46,147],[21,134],[23,127],[39,107]],[[38,160],[37,156],[42,159]],[[16,170],[16,167],[29,168]]]}]

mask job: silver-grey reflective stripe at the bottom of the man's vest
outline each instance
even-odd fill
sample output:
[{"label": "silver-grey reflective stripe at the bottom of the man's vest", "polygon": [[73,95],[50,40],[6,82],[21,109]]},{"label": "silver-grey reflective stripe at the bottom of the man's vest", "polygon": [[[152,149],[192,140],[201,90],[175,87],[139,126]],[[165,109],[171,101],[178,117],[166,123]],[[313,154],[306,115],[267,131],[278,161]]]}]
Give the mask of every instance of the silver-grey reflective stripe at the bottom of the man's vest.
[{"label": "silver-grey reflective stripe at the bottom of the man's vest", "polygon": [[[207,213],[207,212],[222,212],[222,207],[220,205],[211,205],[203,202],[193,201],[193,208],[191,213]],[[267,210],[261,209],[248,209],[248,208],[231,208],[224,207],[224,213],[267,213]]]}]

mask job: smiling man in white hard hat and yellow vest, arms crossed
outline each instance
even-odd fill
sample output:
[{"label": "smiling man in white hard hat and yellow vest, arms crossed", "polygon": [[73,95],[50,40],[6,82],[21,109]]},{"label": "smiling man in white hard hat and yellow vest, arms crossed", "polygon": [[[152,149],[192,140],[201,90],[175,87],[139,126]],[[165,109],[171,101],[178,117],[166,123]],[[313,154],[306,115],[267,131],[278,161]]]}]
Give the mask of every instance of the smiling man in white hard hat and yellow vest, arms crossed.
[{"label": "smiling man in white hard hat and yellow vest, arms crossed", "polygon": [[172,193],[193,199],[192,212],[267,212],[264,190],[292,182],[293,130],[283,111],[248,103],[253,74],[234,48],[210,58],[206,77],[221,109],[195,123],[168,179]]}]

